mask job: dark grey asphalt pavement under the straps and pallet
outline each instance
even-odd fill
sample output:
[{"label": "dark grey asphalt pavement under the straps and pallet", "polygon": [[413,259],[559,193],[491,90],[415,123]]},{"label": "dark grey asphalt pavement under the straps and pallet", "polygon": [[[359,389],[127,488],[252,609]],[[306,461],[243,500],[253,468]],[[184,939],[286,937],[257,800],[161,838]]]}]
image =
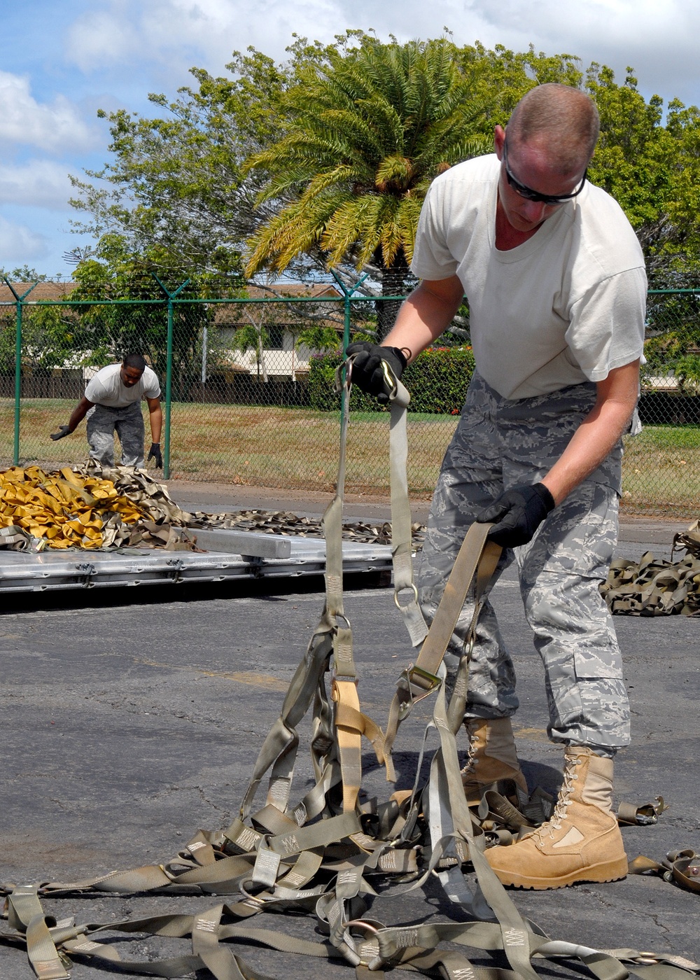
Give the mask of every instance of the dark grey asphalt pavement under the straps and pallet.
[{"label": "dark grey asphalt pavement under the straps and pallet", "polygon": [[[329,499],[178,481],[170,490],[191,510],[256,507],[318,514]],[[426,506],[417,503],[415,519],[425,519]],[[349,500],[347,512],[361,519],[388,515],[385,502],[368,499]],[[634,557],[650,549],[669,557],[675,530],[693,516],[625,520],[619,553]],[[346,585],[361,703],[383,724],[394,682],[412,651],[391,591],[361,576]],[[296,579],[6,597],[0,617],[0,881],[70,881],[159,862],[173,858],[198,828],[227,826],[319,620],[322,589],[318,579]],[[519,673],[515,726],[525,776],[530,788],[556,791],[562,754],[546,737],[542,669],[512,571],[497,584],[493,600]],[[624,828],[627,854],[662,859],[672,849],[700,851],[700,623],[681,616],[617,616],[616,625],[633,718],[632,744],[616,762],[616,801],[642,804],[663,796],[669,807],[654,825]],[[426,708],[417,709],[401,728],[399,786],[413,779],[427,717]],[[303,796],[312,773],[305,724],[300,732],[295,797]],[[365,764],[367,791],[388,798],[391,788],[369,752]],[[700,895],[660,878],[511,895],[552,938],[700,961]],[[192,912],[216,902],[96,895],[47,902],[46,910],[95,922]],[[436,882],[403,897],[378,898],[372,915],[385,924],[460,917]],[[275,916],[272,926],[319,939],[308,918]],[[130,952],[142,956],[155,949],[145,940],[136,947]],[[161,953],[175,948],[188,952],[180,941],[161,947]],[[239,952],[272,977],[354,975],[342,962],[253,946]],[[483,954],[474,961],[489,962]],[[20,951],[0,945],[2,980],[31,975]],[[546,966],[543,975],[564,972]],[[76,964],[72,976],[83,980],[99,973]]]}]

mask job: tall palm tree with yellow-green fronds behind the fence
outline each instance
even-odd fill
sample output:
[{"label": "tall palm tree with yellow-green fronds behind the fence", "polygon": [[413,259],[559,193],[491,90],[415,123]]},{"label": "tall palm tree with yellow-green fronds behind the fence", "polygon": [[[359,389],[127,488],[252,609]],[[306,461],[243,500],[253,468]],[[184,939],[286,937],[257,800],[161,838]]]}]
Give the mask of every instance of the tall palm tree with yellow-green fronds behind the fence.
[{"label": "tall palm tree with yellow-green fronds behind the fence", "polygon": [[[352,262],[381,280],[382,296],[403,294],[430,181],[491,146],[458,49],[361,35],[359,48],[327,49],[323,65],[301,70],[286,114],[285,134],[246,165],[267,173],[259,204],[277,205],[249,242],[247,274],[320,250],[328,268]],[[386,306],[379,336],[395,317]]]}]

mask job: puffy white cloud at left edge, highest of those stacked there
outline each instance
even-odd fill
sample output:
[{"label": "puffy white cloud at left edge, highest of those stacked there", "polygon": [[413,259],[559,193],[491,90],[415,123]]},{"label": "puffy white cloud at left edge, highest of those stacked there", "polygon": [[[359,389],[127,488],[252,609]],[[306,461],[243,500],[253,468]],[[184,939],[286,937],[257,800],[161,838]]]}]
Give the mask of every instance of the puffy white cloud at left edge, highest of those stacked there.
[{"label": "puffy white cloud at left edge, highest of those stacked there", "polygon": [[0,71],[0,140],[40,147],[43,150],[78,149],[93,142],[88,126],[67,98],[51,104],[37,102],[29,81]]}]

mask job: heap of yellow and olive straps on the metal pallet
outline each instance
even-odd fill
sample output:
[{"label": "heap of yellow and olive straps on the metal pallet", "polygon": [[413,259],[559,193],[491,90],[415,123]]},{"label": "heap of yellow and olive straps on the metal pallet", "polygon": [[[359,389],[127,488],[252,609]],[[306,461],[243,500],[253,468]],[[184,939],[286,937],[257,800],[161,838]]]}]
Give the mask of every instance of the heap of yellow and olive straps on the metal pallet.
[{"label": "heap of yellow and olive straps on the metal pallet", "polygon": [[[0,471],[0,548],[39,552],[47,548],[115,551],[165,548],[196,551],[198,528],[251,530],[322,538],[321,520],[287,511],[246,510],[193,514],[177,507],[164,484],[133,466],[101,466],[90,460],[47,472],[39,466]],[[414,549],[425,535],[411,525]],[[342,525],[344,540],[390,544],[388,521]]]}]

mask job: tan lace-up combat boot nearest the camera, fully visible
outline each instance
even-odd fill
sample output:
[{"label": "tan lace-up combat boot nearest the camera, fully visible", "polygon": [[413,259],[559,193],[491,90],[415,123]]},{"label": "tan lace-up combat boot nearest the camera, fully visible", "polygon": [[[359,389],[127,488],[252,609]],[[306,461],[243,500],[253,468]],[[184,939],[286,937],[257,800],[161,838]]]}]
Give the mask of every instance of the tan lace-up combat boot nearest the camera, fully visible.
[{"label": "tan lace-up combat boot nearest the camera, fully visible", "polygon": [[613,760],[585,746],[569,746],[551,818],[516,844],[489,849],[488,863],[504,885],[516,888],[624,878],[627,858],[612,796]]}]

